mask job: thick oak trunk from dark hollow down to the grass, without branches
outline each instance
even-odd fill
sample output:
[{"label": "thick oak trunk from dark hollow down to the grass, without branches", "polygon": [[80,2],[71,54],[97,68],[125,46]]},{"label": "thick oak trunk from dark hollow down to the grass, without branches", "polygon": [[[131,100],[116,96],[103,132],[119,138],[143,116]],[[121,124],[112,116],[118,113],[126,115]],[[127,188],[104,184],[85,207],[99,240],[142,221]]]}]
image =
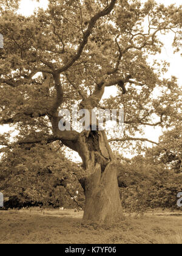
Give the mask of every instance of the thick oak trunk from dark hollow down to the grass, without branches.
[{"label": "thick oak trunk from dark hollow down to the grass, without branches", "polygon": [[112,152],[103,131],[84,132],[80,137],[83,166],[88,175],[79,180],[84,188],[84,220],[113,222],[120,218],[121,200]]}]

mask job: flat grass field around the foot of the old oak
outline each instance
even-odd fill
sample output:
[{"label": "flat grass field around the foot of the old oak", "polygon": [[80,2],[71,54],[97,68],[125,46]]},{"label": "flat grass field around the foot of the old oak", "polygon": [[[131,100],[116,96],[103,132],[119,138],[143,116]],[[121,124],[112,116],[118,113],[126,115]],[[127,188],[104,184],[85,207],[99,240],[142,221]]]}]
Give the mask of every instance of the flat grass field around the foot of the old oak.
[{"label": "flat grass field around the foot of the old oak", "polygon": [[73,210],[0,211],[0,244],[181,244],[182,215],[147,213],[98,226]]}]

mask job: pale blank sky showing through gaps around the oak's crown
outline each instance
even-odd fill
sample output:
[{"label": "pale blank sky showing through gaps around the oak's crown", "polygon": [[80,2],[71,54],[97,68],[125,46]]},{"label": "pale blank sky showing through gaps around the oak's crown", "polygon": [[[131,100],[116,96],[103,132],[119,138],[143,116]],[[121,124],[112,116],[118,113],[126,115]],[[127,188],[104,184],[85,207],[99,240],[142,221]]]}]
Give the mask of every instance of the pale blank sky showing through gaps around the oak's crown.
[{"label": "pale blank sky showing through gaps around the oak's crown", "polygon": [[[143,2],[145,0],[142,0]],[[170,4],[181,4],[181,0],[156,0],[156,2],[164,4],[164,5],[170,5]],[[20,4],[20,9],[19,13],[25,16],[29,16],[33,14],[33,11],[41,7],[44,10],[47,8],[48,1],[47,0],[39,0],[39,2],[32,1],[32,0],[22,0]],[[172,48],[172,40],[174,38],[173,34],[167,35],[163,38],[163,41],[165,42],[164,44],[164,49],[162,50],[162,53],[160,55],[155,55],[154,57],[156,59],[161,59],[161,60],[166,60],[167,62],[170,63],[170,68],[168,72],[165,74],[165,77],[170,77],[171,75],[176,76],[178,78],[178,82],[180,86],[182,85],[182,75],[181,75],[181,56],[180,53],[174,54],[174,49]],[[104,97],[107,97],[109,95],[116,95],[116,87],[110,87],[106,88],[106,91],[104,93]],[[154,121],[155,122],[155,121]],[[4,131],[8,131],[9,127],[8,126],[0,126],[0,133]],[[159,127],[146,127],[145,129],[145,135],[144,137],[148,138],[149,140],[153,140],[158,142],[158,137],[161,135],[161,129]],[[151,146],[149,143],[148,146]]]}]

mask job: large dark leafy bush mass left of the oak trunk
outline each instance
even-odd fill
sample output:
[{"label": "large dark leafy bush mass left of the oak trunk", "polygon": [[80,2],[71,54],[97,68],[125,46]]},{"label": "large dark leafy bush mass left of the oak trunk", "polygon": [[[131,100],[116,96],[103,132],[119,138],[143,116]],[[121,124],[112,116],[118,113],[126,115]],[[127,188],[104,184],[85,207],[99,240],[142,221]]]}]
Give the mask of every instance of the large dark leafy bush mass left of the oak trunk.
[{"label": "large dark leafy bush mass left of the oak trunk", "polygon": [[[42,144],[14,148],[1,159],[0,190],[4,193],[5,207],[83,206],[77,172],[78,166],[66,160],[60,151],[56,152],[56,147]],[[74,196],[78,204],[73,201]]]}]

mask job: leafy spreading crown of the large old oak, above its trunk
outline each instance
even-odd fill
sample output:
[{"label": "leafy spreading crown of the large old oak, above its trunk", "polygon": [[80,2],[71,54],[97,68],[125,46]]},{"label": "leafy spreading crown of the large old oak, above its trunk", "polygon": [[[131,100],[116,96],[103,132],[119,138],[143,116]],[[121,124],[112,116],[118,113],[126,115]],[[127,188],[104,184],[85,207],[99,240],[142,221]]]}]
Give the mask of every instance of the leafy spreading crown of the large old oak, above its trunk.
[{"label": "leafy spreading crown of the large old oak, above its trunk", "polygon": [[[103,88],[112,85],[118,85],[118,96],[104,100],[103,107],[124,106],[122,140],[129,140],[144,125],[169,127],[177,119],[181,121],[177,79],[162,78],[166,62],[155,60],[151,65],[148,61],[150,54],[161,51],[160,32],[174,31],[178,50],[181,9],[174,4],[50,1],[46,11],[40,9],[30,17],[4,6],[0,122],[16,125],[19,140],[49,140],[51,129],[46,117],[58,105],[69,108],[87,99],[92,107],[98,107]],[[54,77],[61,74],[60,87],[42,83],[39,72]],[[127,93],[120,87],[122,83]],[[155,88],[160,93],[153,98]],[[56,90],[61,90],[57,99]],[[76,136],[72,131],[58,137],[72,140]]]}]

